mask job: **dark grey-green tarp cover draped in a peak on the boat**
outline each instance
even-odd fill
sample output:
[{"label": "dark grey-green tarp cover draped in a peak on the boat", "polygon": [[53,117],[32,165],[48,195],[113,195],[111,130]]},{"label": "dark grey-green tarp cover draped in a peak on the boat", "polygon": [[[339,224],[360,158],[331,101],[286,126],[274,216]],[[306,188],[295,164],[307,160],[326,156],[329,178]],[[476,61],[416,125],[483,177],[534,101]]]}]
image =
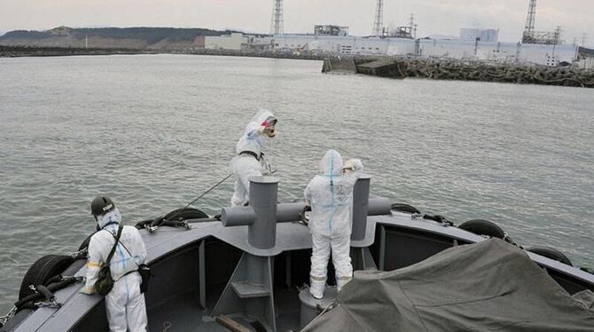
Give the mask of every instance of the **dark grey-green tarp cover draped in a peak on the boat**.
[{"label": "dark grey-green tarp cover draped in a peak on the boat", "polygon": [[395,271],[356,272],[338,299],[304,331],[594,331],[594,312],[498,239]]}]

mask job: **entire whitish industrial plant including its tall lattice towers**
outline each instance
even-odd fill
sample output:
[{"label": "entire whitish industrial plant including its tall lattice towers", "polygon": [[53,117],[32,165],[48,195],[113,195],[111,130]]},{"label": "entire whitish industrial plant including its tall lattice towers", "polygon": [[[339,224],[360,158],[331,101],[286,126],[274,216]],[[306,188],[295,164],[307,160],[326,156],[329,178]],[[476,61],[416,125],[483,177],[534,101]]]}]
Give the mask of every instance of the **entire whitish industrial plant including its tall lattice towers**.
[{"label": "entire whitish industrial plant including its tall lattice towers", "polygon": [[[272,36],[246,36],[241,33],[206,36],[204,45],[207,49],[238,51],[417,56],[508,63],[530,62],[546,66],[577,61],[579,48],[576,45],[560,43],[559,33],[555,43],[535,39],[536,36],[540,36],[534,31],[536,0],[530,0],[529,3],[524,43],[499,42],[499,30],[493,28],[462,28],[459,37],[416,38],[417,25],[414,23],[413,15],[410,15],[407,26],[388,31],[387,28],[382,28],[383,0],[377,0],[376,3],[373,36],[348,36],[348,27],[337,25],[316,25],[313,35],[289,35],[283,33],[283,0],[273,0],[270,20]],[[583,66],[589,67],[590,63],[584,62]]]}]

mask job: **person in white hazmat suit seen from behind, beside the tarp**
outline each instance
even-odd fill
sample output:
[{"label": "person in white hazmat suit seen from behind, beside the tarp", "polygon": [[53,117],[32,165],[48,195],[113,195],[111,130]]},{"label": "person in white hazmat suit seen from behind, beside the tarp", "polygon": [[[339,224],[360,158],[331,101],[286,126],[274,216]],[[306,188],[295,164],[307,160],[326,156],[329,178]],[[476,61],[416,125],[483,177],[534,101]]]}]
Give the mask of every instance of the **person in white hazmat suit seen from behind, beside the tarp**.
[{"label": "person in white hazmat suit seen from behind, beside the tarp", "polygon": [[[360,162],[360,161],[359,161]],[[363,164],[360,165],[363,170]],[[355,166],[348,165],[348,171]],[[350,263],[350,234],[352,232],[351,206],[356,172],[342,174],[340,154],[328,150],[320,162],[321,175],[313,178],[304,195],[311,206],[309,232],[312,236],[309,292],[316,298],[324,296],[328,260],[332,250],[332,264],[336,270],[340,290],[353,276]]]}]

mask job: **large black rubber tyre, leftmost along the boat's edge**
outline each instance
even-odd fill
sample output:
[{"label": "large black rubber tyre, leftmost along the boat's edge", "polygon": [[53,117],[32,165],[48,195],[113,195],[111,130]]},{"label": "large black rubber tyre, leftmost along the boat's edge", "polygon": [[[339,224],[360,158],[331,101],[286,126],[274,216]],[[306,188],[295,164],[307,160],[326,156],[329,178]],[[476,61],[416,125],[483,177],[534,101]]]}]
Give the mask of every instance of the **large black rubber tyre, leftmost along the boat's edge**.
[{"label": "large black rubber tyre, leftmost along the boat's edge", "polygon": [[73,257],[64,255],[47,255],[37,259],[20,282],[19,299],[35,293],[29,289],[29,285],[45,285],[51,277],[64,272],[73,263]]}]

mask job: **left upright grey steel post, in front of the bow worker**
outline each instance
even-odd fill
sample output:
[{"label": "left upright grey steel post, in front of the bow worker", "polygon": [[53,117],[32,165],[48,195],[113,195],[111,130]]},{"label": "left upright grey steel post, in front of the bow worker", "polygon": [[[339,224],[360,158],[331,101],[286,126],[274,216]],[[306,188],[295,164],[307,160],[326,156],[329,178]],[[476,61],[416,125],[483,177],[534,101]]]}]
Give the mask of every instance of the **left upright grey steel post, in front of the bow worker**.
[{"label": "left upright grey steel post, in front of the bow worker", "polygon": [[249,205],[255,221],[247,227],[247,242],[258,249],[273,248],[277,240],[278,178],[255,177],[250,180]]}]

